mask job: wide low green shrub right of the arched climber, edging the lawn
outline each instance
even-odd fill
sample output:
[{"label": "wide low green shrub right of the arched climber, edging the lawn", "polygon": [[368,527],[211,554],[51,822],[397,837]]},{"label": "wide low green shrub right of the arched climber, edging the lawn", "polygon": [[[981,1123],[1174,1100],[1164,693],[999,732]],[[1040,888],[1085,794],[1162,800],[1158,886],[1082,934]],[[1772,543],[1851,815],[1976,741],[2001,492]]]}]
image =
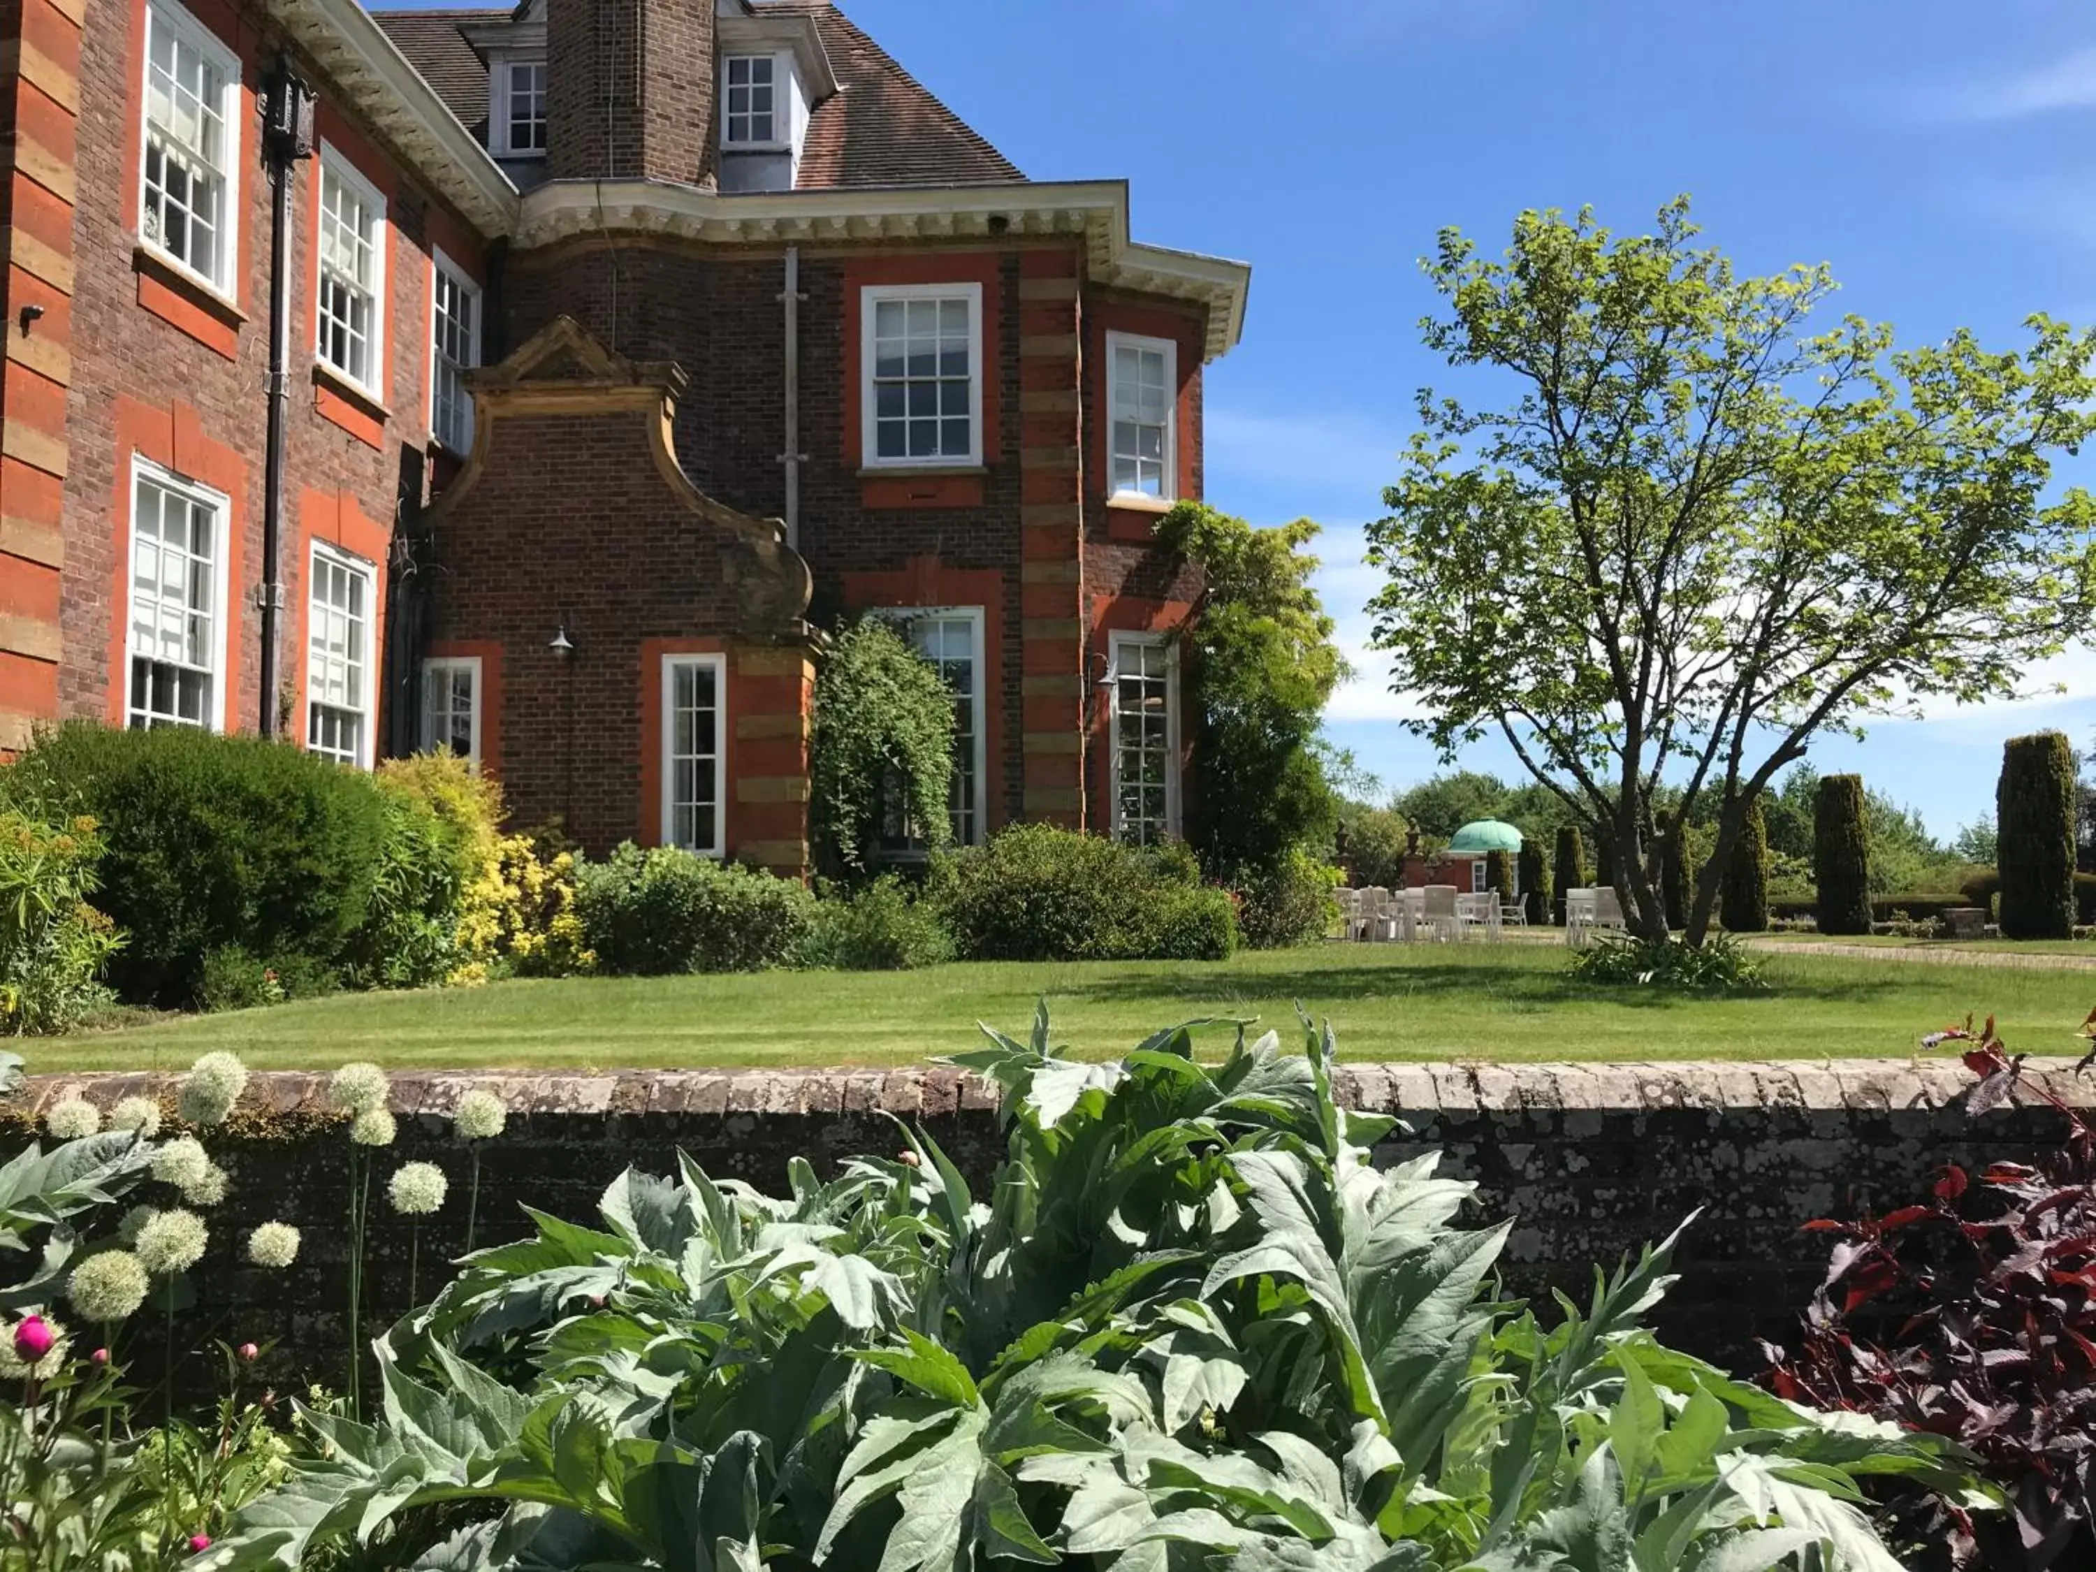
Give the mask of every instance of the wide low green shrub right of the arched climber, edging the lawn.
[{"label": "wide low green shrub right of the arched climber, edging the lawn", "polygon": [[1184,847],[1014,824],[937,859],[933,882],[968,960],[1222,960],[1237,941],[1230,897],[1201,889]]}]

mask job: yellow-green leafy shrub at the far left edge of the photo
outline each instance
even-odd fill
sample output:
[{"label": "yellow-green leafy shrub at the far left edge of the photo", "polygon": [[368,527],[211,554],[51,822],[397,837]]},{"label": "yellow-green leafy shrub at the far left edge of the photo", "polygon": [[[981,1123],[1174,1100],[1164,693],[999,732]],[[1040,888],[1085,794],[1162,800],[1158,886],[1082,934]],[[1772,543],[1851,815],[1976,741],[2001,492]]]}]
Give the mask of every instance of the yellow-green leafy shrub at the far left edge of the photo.
[{"label": "yellow-green leafy shrub at the far left edge of the photo", "polygon": [[44,824],[0,811],[0,1031],[67,1031],[109,1002],[103,968],[124,939],[88,903],[103,838],[88,815]]}]

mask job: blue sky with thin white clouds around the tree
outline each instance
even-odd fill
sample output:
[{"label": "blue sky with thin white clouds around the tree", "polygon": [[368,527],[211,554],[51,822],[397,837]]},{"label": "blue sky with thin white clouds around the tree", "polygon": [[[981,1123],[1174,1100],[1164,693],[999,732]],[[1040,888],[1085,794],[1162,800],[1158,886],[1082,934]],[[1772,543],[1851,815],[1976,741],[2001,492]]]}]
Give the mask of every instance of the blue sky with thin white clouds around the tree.
[{"label": "blue sky with thin white clouds around the tree", "polygon": [[[2086,0],[843,4],[1029,176],[1128,176],[1138,239],[1253,264],[1245,342],[1209,369],[1209,501],[1327,526],[1360,667],[1331,732],[1390,786],[1436,761],[1367,650],[1360,524],[1413,392],[1448,381],[1417,333],[1442,224],[1499,249],[1522,208],[1633,228],[1687,191],[1742,268],[1832,262],[1840,308],[1907,342],[2096,316]],[[2002,738],[2096,740],[2096,656],[2035,677],[2067,694],[1878,723],[1815,761],[1947,836],[1991,809]]]}]

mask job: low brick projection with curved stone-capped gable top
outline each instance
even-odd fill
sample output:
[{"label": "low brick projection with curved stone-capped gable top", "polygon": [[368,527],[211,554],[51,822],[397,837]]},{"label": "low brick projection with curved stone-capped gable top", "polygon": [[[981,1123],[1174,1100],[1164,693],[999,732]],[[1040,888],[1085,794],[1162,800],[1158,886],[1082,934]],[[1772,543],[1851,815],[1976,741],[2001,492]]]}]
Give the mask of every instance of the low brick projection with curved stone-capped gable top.
[{"label": "low brick projection with curved stone-capped gable top", "polygon": [[[560,316],[470,388],[474,451],[428,516],[430,654],[480,662],[511,817],[599,853],[658,845],[696,780],[717,826],[696,849],[805,874],[813,581],[784,524],[677,463],[683,371]],[[664,708],[667,667],[692,658],[717,721],[696,765]]]}]

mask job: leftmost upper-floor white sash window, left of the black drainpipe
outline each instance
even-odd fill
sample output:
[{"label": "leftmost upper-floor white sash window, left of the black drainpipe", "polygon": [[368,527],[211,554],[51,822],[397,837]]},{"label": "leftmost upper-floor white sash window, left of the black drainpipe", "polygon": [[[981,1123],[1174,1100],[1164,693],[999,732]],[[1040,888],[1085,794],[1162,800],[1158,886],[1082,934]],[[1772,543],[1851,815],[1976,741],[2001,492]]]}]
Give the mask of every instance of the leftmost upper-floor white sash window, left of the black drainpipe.
[{"label": "leftmost upper-floor white sash window, left of the black drainpipe", "polygon": [[151,0],[138,235],[224,293],[237,249],[239,94],[239,57],[172,0]]}]

